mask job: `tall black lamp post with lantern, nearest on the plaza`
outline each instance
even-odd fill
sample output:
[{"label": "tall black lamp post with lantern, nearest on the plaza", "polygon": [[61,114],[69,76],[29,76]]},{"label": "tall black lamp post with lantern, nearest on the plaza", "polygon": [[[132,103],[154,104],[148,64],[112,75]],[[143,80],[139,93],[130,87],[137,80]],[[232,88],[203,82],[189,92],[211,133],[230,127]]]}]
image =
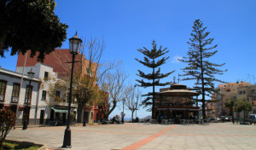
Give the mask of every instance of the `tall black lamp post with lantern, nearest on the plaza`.
[{"label": "tall black lamp post with lantern, nearest on the plaza", "polygon": [[71,78],[70,78],[70,87],[69,87],[69,101],[68,101],[68,113],[67,113],[67,128],[64,134],[64,141],[62,147],[71,148],[71,130],[69,128],[70,122],[70,109],[71,109],[71,99],[72,99],[72,84],[73,84],[73,64],[75,55],[79,54],[79,47],[82,43],[82,40],[78,37],[78,33],[73,36],[73,38],[69,38],[69,52],[72,54],[72,67],[71,67]]}]

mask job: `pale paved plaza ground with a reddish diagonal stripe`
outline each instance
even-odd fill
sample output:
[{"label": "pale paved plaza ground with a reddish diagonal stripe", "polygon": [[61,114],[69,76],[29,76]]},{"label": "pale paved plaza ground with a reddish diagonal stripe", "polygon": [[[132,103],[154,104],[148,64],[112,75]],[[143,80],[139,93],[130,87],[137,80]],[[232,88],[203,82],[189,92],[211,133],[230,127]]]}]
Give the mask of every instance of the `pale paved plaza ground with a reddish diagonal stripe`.
[{"label": "pale paved plaza ground with a reddish diagonal stripe", "polygon": [[[18,128],[11,130],[7,139],[62,149],[65,129],[64,126]],[[72,126],[71,130],[72,150],[256,149],[256,125],[125,123]]]}]

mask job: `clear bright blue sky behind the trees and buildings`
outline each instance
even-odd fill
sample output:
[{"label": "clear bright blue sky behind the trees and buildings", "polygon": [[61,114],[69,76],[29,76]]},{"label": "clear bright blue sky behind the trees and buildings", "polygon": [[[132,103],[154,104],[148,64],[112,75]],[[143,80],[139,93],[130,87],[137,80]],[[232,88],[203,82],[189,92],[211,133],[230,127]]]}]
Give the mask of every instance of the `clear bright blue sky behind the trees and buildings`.
[{"label": "clear bright blue sky behind the trees and buildings", "polygon": [[[166,55],[170,59],[161,71],[176,70],[162,81],[172,81],[174,75],[182,74],[180,68],[186,64],[175,58],[186,55],[195,19],[202,20],[211,32],[209,38],[214,38],[213,43],[218,44],[218,53],[210,61],[226,63],[221,68],[228,72],[218,78],[226,82],[256,83],[254,0],[57,0],[56,4],[55,14],[69,26],[67,38],[73,37],[76,31],[80,38],[104,38],[103,59],[123,61],[128,80],[134,84],[137,69],[148,71],[135,61],[135,58],[143,59],[137,49],[150,49],[152,40],[170,50]],[[67,40],[61,48],[68,48]],[[7,54],[5,59],[0,58],[0,66],[15,71],[16,59],[17,56]],[[181,84],[193,85],[192,82]],[[143,89],[148,90],[151,89]],[[119,106],[112,115],[120,113]],[[137,112],[139,118],[148,114],[144,110]]]}]

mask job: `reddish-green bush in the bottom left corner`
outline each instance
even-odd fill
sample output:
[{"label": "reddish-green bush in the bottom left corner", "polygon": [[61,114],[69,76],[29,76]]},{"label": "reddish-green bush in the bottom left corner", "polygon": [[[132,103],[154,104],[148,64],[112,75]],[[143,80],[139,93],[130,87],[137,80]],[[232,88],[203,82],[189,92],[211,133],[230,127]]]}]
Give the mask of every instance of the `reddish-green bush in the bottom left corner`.
[{"label": "reddish-green bush in the bottom left corner", "polygon": [[16,123],[16,115],[10,109],[0,109],[0,149],[3,147],[3,141],[9,134],[9,131]]}]

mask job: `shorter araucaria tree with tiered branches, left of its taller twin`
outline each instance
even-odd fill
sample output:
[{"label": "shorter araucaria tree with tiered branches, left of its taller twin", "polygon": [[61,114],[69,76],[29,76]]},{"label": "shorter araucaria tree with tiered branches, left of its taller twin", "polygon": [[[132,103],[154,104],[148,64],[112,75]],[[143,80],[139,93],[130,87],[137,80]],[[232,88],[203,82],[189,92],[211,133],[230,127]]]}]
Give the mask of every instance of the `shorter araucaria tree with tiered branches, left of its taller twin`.
[{"label": "shorter araucaria tree with tiered branches, left of its taller twin", "polygon": [[136,61],[140,62],[144,66],[147,66],[148,68],[152,69],[151,73],[145,73],[143,71],[138,70],[137,76],[146,79],[147,81],[144,81],[143,79],[137,79],[136,81],[139,83],[137,84],[140,87],[147,88],[147,87],[153,87],[152,92],[148,92],[148,94],[145,94],[143,96],[146,96],[146,98],[142,101],[143,107],[151,107],[148,108],[148,111],[152,111],[152,118],[154,118],[154,89],[155,86],[166,86],[167,84],[171,84],[170,82],[166,83],[160,83],[161,78],[168,77],[172,72],[167,73],[160,73],[160,66],[166,63],[166,60],[169,59],[168,57],[162,57],[162,55],[165,55],[169,52],[167,48],[162,49],[162,46],[160,46],[159,49],[156,49],[156,43],[153,41],[152,43],[152,49],[148,50],[145,47],[143,49],[137,49],[139,52],[141,52],[144,56],[144,60],[140,61],[137,58]]}]

